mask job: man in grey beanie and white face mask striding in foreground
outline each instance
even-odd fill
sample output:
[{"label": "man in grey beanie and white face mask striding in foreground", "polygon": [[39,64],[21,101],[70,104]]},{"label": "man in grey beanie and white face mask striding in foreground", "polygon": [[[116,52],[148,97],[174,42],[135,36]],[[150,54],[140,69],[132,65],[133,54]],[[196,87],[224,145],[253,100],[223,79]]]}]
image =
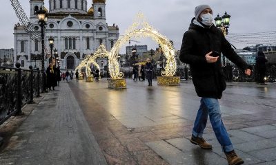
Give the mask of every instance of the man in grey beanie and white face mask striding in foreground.
[{"label": "man in grey beanie and white face mask striding in foreground", "polygon": [[245,74],[250,75],[246,62],[235,53],[221,30],[213,25],[213,11],[210,6],[199,5],[195,8],[195,18],[192,19],[189,30],[184,34],[179,54],[180,61],[190,65],[195,91],[201,97],[190,142],[201,148],[212,148],[202,137],[209,115],[228,164],[243,164],[244,161],[235,153],[221,120],[218,99],[226,89],[221,53],[244,70]]}]

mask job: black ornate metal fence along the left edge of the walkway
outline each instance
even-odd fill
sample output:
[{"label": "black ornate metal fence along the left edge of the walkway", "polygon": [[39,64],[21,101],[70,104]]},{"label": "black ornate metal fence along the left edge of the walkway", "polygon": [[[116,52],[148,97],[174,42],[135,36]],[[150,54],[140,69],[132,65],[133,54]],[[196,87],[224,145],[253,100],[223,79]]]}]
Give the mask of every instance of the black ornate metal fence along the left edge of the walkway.
[{"label": "black ornate metal fence along the left edge of the walkway", "polygon": [[42,92],[42,74],[39,70],[0,67],[0,124],[12,115],[23,114],[21,108],[33,102]]}]

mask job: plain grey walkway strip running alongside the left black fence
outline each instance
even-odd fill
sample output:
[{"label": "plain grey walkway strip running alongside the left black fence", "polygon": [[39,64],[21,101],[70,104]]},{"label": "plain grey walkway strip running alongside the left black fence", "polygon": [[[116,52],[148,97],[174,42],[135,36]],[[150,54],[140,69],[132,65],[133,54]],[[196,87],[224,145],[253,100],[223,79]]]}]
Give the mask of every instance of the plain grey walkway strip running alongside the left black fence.
[{"label": "plain grey walkway strip running alongside the left black fence", "polygon": [[34,105],[0,153],[1,165],[106,164],[68,84],[57,89]]}]

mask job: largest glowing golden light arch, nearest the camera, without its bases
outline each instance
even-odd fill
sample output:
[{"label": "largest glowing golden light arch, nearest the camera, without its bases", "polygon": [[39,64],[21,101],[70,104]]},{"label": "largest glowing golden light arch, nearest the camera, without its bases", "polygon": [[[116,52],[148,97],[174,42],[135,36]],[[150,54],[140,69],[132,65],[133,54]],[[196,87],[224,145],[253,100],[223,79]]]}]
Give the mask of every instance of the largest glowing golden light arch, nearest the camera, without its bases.
[{"label": "largest glowing golden light arch, nearest the camera, without its bases", "polygon": [[166,38],[166,36],[161,35],[157,30],[152,28],[152,26],[146,21],[144,14],[139,12],[137,17],[135,17],[132,25],[126,30],[124,36],[115,43],[114,47],[110,51],[110,58],[108,58],[109,72],[112,79],[120,79],[124,77],[122,72],[119,72],[119,63],[117,61],[119,55],[119,49],[124,44],[128,43],[130,38],[146,38],[149,37],[161,47],[166,58],[166,65],[164,70],[161,71],[161,76],[174,76],[177,71],[177,63],[175,60],[175,48],[172,43]]}]

